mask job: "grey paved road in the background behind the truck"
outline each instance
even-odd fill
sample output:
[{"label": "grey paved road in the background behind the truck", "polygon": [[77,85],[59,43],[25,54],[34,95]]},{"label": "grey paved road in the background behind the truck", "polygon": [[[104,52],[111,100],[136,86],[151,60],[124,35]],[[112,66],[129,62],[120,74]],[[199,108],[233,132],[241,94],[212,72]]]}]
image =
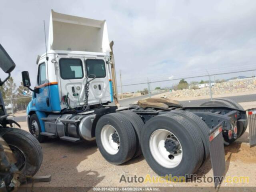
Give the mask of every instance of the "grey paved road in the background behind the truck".
[{"label": "grey paved road in the background behind the truck", "polygon": [[[151,94],[156,95],[156,94]],[[148,98],[148,95],[143,95],[143,96],[138,96],[134,98],[128,98],[128,99],[122,99],[119,100],[119,103],[121,106],[128,106],[129,104],[132,104],[134,102],[137,102],[140,99]],[[235,102],[251,102],[251,101],[256,101],[256,94],[250,94],[250,95],[241,95],[241,96],[231,96],[231,97],[225,97],[234,100]],[[216,99],[216,98],[214,98]],[[208,101],[210,99],[200,99],[200,100],[187,100],[187,101],[181,101],[180,103],[184,106],[199,106],[200,104]],[[112,104],[114,105],[114,104]],[[26,121],[26,116],[19,116],[19,117],[14,117],[14,120],[17,122],[24,122]]]}]

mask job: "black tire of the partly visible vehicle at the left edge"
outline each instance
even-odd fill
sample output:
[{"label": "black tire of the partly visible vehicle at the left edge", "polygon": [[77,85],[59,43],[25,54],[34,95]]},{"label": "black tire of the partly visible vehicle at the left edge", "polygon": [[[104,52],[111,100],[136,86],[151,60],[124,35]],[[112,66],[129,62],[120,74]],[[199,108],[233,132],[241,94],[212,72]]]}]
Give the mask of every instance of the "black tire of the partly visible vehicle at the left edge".
[{"label": "black tire of the partly visible vehicle at the left edge", "polygon": [[30,133],[17,128],[6,129],[9,130],[3,138],[17,159],[15,165],[22,173],[19,180],[25,182],[25,176],[34,176],[39,170],[43,160],[42,148],[38,140]]}]

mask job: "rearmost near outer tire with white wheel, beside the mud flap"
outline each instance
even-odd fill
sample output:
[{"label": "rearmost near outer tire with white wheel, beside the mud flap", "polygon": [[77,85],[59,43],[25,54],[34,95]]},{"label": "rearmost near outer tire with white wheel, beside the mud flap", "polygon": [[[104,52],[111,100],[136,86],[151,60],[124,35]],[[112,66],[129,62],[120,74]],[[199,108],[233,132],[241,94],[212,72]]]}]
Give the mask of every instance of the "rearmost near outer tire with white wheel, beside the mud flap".
[{"label": "rearmost near outer tire with white wheel, beside the mud flap", "polygon": [[171,113],[146,122],[141,147],[148,165],[160,176],[185,178],[198,170],[204,155],[198,128],[188,119]]}]

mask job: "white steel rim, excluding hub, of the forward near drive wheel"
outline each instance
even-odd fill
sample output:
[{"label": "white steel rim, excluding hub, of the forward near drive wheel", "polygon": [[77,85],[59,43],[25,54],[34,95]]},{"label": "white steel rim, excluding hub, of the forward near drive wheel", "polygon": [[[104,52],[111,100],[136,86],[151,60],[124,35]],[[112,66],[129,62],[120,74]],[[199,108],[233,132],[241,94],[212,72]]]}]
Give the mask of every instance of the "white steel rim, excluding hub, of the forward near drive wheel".
[{"label": "white steel rim, excluding hub, of the forward near drive wheel", "polygon": [[102,146],[106,150],[106,152],[108,152],[111,155],[117,154],[118,151],[119,151],[119,147],[120,147],[120,137],[119,137],[119,135],[118,135],[119,143],[114,142],[113,139],[112,139],[112,135],[115,132],[118,135],[118,132],[116,131],[116,129],[112,125],[104,125],[102,127],[101,132],[100,132],[100,139],[101,139],[101,142],[102,142]]}]

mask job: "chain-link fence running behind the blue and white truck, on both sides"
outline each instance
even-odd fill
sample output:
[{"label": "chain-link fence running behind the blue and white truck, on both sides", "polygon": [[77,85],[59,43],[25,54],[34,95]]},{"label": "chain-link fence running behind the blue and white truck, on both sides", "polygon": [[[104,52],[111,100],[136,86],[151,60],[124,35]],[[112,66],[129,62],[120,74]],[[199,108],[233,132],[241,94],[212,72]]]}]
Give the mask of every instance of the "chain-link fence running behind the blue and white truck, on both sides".
[{"label": "chain-link fence running behind the blue and white truck, on both sides", "polygon": [[[118,86],[119,102],[121,106],[127,106],[143,98],[164,97],[178,100],[184,106],[199,106],[208,100],[230,98],[242,103],[244,108],[252,108],[256,107],[254,71],[256,70],[172,77],[156,81],[147,79],[146,82],[123,84],[122,94],[121,86]],[[184,80],[184,84],[180,84],[181,80]],[[30,100],[31,96],[5,99],[7,113],[25,112]]]}]

